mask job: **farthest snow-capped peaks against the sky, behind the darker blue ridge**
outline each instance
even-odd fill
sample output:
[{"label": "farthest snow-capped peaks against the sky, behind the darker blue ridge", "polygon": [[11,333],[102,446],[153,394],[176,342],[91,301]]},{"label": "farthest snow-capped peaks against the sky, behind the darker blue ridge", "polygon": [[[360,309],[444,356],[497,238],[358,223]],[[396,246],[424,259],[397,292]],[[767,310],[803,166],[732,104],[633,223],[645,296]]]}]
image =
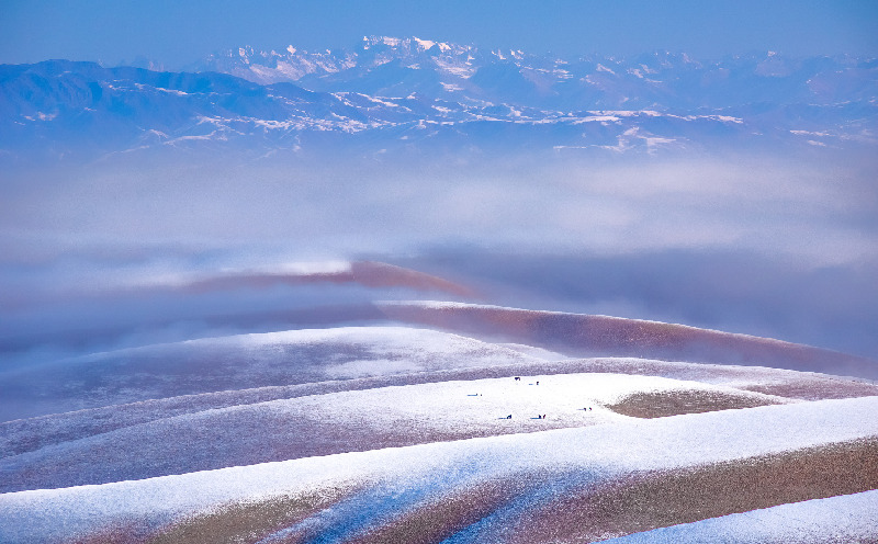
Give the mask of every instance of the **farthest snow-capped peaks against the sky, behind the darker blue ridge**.
[{"label": "farthest snow-capped peaks against the sky, behind the darker blue ridge", "polygon": [[[685,54],[558,58],[417,37],[365,36],[354,47],[259,52],[243,47],[190,68],[259,83],[349,90],[549,109],[722,109],[753,103],[832,104],[874,98],[875,64],[849,57],[777,53],[698,60]],[[844,99],[841,99],[842,95]],[[841,99],[841,100],[840,100]]]}]

